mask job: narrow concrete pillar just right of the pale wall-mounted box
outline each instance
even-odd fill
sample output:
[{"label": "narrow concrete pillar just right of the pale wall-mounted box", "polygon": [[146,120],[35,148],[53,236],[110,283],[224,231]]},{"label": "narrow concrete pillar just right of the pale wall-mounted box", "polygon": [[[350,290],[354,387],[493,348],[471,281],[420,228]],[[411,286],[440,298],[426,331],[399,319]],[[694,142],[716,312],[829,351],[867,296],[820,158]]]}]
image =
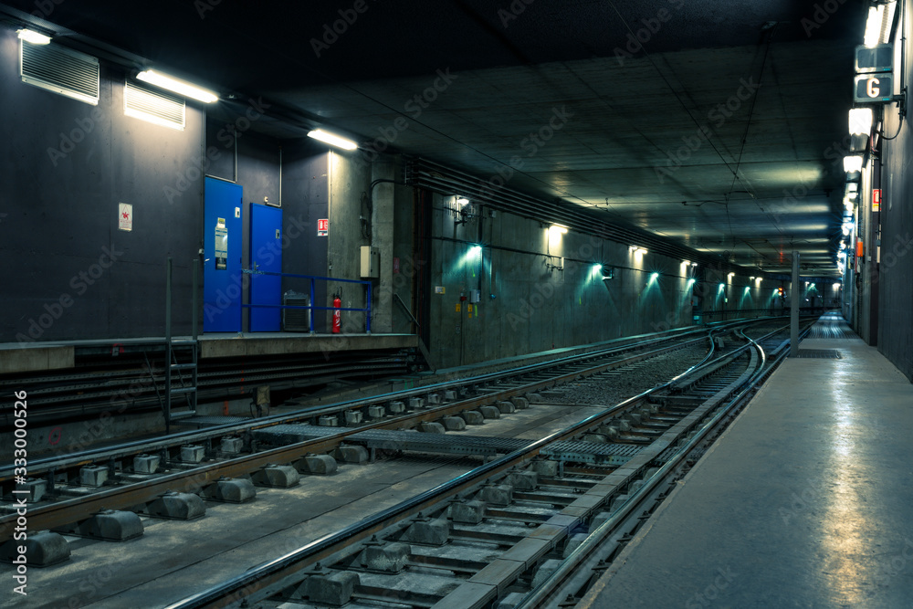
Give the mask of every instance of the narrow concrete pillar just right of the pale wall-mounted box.
[{"label": "narrow concrete pillar just right of the pale wall-mounted box", "polygon": [[[382,156],[372,163],[371,180],[394,180],[394,160]],[[382,182],[373,189],[371,214],[371,245],[381,250],[381,278],[374,300],[372,331],[393,331],[394,280],[394,190],[395,184]]]}]

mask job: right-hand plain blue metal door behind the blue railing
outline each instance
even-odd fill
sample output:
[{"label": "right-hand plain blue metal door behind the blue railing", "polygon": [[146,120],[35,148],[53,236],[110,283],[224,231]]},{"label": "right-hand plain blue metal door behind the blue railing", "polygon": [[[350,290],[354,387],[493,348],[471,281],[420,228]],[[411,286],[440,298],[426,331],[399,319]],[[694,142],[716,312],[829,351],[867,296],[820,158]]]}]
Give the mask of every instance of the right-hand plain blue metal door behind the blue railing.
[{"label": "right-hand plain blue metal door behind the blue railing", "polygon": [[257,272],[282,272],[281,209],[250,204],[250,268],[255,271],[250,278],[250,331],[278,332],[282,278]]}]

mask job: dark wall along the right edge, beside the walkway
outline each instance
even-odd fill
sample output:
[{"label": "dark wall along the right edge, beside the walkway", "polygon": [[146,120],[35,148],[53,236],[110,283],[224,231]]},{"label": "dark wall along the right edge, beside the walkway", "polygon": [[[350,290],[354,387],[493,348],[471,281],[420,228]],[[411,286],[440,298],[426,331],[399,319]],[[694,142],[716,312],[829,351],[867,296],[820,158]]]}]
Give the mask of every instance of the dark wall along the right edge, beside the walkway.
[{"label": "dark wall along the right edge, beside the walkway", "polygon": [[[903,65],[907,74],[900,79],[909,82],[913,76],[913,26],[909,15],[913,10],[911,0],[906,2],[904,15],[907,22],[902,24],[895,43],[901,48],[906,61]],[[895,65],[901,65],[896,62]],[[881,187],[883,189],[881,225],[880,264],[868,283],[859,288],[864,295],[878,292],[878,350],[894,363],[900,372],[913,381],[913,174],[909,171],[909,159],[913,155],[913,135],[909,120],[902,126],[897,120],[897,106],[891,104],[885,110],[885,131],[889,135],[898,132],[897,139],[881,143]],[[877,252],[876,252],[877,260]]]}]

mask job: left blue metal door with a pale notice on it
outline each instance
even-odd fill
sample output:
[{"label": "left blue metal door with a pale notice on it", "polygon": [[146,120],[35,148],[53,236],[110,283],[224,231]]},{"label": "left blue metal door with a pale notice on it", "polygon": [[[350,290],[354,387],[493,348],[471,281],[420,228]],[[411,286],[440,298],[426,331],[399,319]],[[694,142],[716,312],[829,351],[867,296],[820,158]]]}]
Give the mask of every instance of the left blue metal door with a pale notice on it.
[{"label": "left blue metal door with a pale notice on it", "polygon": [[206,178],[203,331],[241,331],[241,199],[238,184]]}]

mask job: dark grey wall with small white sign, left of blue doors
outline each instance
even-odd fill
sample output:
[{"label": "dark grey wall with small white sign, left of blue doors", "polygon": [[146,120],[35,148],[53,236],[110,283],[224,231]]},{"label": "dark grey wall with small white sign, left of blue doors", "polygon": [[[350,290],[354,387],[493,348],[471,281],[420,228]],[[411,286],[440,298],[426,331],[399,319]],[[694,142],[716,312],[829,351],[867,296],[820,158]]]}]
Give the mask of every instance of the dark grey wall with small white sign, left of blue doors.
[{"label": "dark grey wall with small white sign, left of blue doors", "polygon": [[[200,247],[203,112],[174,131],[124,116],[124,74],[102,63],[92,106],[19,77],[0,26],[0,342],[163,335],[165,258],[191,298]],[[118,229],[118,204],[133,229]],[[189,331],[190,307],[174,310]]]}]

